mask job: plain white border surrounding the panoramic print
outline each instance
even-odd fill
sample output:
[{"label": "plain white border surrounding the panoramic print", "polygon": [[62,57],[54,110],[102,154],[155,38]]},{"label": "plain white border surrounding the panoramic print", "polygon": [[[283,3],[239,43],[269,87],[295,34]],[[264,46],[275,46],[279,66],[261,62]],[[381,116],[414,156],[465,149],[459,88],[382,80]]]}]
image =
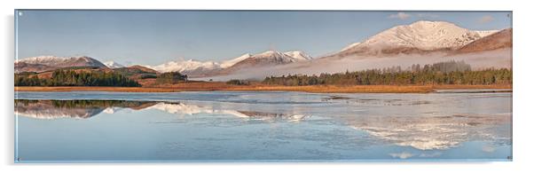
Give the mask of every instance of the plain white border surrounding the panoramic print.
[{"label": "plain white border surrounding the panoramic print", "polygon": [[[530,98],[534,95],[531,75],[534,57],[528,54],[532,38],[532,5],[528,1],[342,1],[312,3],[310,0],[21,0],[2,1],[2,118],[0,133],[3,150],[1,172],[525,172],[532,164],[531,131],[534,115]],[[452,10],[452,11],[514,11],[514,161],[501,162],[362,162],[362,163],[116,163],[116,164],[14,164],[13,162],[13,12],[14,9],[198,9],[198,10]],[[531,48],[530,48],[531,50]]]}]

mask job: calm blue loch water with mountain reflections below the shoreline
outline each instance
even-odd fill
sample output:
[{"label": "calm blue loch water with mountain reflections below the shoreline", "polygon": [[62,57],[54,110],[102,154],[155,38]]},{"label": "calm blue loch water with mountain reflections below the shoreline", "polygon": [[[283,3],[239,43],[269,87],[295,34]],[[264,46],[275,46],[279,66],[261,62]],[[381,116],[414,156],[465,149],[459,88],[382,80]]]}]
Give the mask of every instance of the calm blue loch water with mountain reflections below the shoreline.
[{"label": "calm blue loch water with mountain reflections below the shoreline", "polygon": [[512,93],[18,92],[18,161],[510,161]]}]

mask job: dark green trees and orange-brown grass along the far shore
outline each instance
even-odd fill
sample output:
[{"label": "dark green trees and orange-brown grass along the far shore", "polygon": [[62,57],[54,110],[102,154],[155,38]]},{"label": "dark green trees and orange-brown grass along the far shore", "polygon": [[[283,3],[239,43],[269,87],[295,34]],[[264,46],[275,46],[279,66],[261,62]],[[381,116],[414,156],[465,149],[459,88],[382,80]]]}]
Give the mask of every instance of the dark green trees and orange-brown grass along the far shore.
[{"label": "dark green trees and orange-brown grass along the far shore", "polygon": [[[185,90],[293,90],[307,92],[432,92],[438,89],[511,89],[512,70],[472,70],[463,61],[431,65],[376,68],[336,74],[268,76],[262,81],[189,81],[178,72],[132,75],[121,71],[58,69],[48,77],[15,74],[15,90],[24,91],[138,91]],[[133,77],[135,76],[135,77]]]}]

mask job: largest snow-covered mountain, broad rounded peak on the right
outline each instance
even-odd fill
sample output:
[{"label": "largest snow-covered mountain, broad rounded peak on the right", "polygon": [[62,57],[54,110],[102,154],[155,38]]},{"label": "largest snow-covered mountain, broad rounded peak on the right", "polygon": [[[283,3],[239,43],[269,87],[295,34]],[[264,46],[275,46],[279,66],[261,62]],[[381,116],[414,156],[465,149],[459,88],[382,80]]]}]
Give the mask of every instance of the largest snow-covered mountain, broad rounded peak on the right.
[{"label": "largest snow-covered mountain, broad rounded peak on the right", "polygon": [[362,43],[349,45],[340,53],[395,54],[438,50],[454,50],[497,31],[471,31],[445,21],[417,21],[410,25],[389,28]]}]

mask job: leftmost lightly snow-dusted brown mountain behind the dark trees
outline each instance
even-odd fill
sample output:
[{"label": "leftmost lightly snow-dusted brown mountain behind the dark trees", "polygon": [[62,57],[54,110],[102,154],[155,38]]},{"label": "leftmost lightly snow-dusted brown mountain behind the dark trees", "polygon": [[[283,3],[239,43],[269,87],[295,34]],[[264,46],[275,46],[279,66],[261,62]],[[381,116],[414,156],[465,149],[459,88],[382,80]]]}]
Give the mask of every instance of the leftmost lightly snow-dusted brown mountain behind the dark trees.
[{"label": "leftmost lightly snow-dusted brown mountain behind the dark trees", "polygon": [[40,56],[15,60],[15,72],[43,72],[62,67],[106,67],[90,57]]}]

